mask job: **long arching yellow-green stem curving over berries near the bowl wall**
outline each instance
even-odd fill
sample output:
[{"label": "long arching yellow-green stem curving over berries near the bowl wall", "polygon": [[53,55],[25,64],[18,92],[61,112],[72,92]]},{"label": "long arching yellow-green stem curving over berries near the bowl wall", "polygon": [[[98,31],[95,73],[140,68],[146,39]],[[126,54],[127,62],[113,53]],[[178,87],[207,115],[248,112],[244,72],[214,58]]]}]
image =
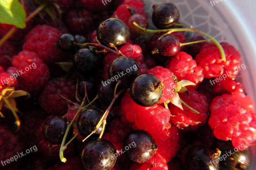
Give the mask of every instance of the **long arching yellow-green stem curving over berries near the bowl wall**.
[{"label": "long arching yellow-green stem curving over berries near the bowl wall", "polygon": [[163,29],[163,30],[150,30],[150,29],[146,29],[146,28],[143,28],[143,27],[139,26],[135,22],[133,22],[133,24],[135,26],[137,26],[138,28],[140,28],[142,31],[144,31],[144,33],[167,32],[165,34],[170,34],[170,33],[173,33],[173,32],[179,32],[179,31],[185,32],[185,31],[187,31],[187,32],[194,32],[194,33],[202,34],[202,35],[208,37],[217,46],[217,48],[220,50],[221,60],[226,62],[226,55],[225,55],[225,52],[224,52],[222,46],[220,45],[220,43],[214,37],[212,37],[211,35],[209,35],[207,33],[204,33],[203,31],[199,31],[199,30],[197,30],[195,28],[171,28],[171,29]]}]

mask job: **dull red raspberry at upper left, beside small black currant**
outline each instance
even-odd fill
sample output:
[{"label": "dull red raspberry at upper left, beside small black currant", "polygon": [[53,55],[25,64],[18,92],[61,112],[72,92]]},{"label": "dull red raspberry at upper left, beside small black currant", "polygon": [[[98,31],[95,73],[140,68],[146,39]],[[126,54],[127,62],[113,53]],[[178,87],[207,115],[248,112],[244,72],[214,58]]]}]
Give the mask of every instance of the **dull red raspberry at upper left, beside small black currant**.
[{"label": "dull red raspberry at upper left, beside small black currant", "polygon": [[25,37],[23,49],[37,53],[45,63],[61,61],[66,59],[67,54],[53,46],[60,35],[61,32],[54,27],[38,25]]}]

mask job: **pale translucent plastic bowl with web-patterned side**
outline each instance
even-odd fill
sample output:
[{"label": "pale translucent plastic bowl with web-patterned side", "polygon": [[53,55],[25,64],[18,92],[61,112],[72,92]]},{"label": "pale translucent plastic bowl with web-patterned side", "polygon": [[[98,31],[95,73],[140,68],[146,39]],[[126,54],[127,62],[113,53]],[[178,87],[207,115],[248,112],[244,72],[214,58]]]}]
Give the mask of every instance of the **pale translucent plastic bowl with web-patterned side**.
[{"label": "pale translucent plastic bowl with web-patterned side", "polygon": [[[256,1],[249,1],[144,0],[150,28],[156,29],[151,19],[153,4],[172,2],[180,10],[181,23],[192,25],[196,29],[212,35],[220,42],[225,41],[235,46],[242,55],[242,63],[246,66],[246,69],[240,71],[238,79],[242,82],[246,94],[255,103],[256,33],[252,28],[256,19],[252,7],[256,6]],[[252,145],[250,148],[255,159],[256,147]],[[250,170],[254,169],[256,169],[256,163],[252,162]]]}]

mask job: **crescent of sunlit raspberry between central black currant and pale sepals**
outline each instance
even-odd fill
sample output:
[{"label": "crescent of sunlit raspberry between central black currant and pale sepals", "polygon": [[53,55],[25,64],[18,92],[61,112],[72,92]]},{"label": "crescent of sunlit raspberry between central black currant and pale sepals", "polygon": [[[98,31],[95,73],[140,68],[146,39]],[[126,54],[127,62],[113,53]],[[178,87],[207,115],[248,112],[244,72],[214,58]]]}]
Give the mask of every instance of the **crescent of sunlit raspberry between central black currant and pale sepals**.
[{"label": "crescent of sunlit raspberry between central black currant and pale sepals", "polygon": [[159,102],[164,103],[167,100],[172,99],[172,97],[174,96],[174,89],[177,85],[173,80],[172,72],[166,68],[161,67],[161,66],[156,66],[156,67],[148,70],[148,73],[153,74],[161,82],[164,83],[163,95]]}]

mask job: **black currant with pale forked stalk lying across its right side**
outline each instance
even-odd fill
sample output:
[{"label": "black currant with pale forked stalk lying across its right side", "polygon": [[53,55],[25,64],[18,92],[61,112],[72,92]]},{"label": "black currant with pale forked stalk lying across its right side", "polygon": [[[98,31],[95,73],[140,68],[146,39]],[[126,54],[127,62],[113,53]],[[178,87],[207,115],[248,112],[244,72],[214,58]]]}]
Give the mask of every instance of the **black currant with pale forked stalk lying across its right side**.
[{"label": "black currant with pale forked stalk lying across its right side", "polygon": [[[77,129],[82,137],[87,137],[95,129],[104,112],[95,107],[87,107],[77,118]],[[99,128],[100,129],[100,128]],[[101,131],[100,131],[101,132]],[[96,134],[100,134],[96,131]]]}]

